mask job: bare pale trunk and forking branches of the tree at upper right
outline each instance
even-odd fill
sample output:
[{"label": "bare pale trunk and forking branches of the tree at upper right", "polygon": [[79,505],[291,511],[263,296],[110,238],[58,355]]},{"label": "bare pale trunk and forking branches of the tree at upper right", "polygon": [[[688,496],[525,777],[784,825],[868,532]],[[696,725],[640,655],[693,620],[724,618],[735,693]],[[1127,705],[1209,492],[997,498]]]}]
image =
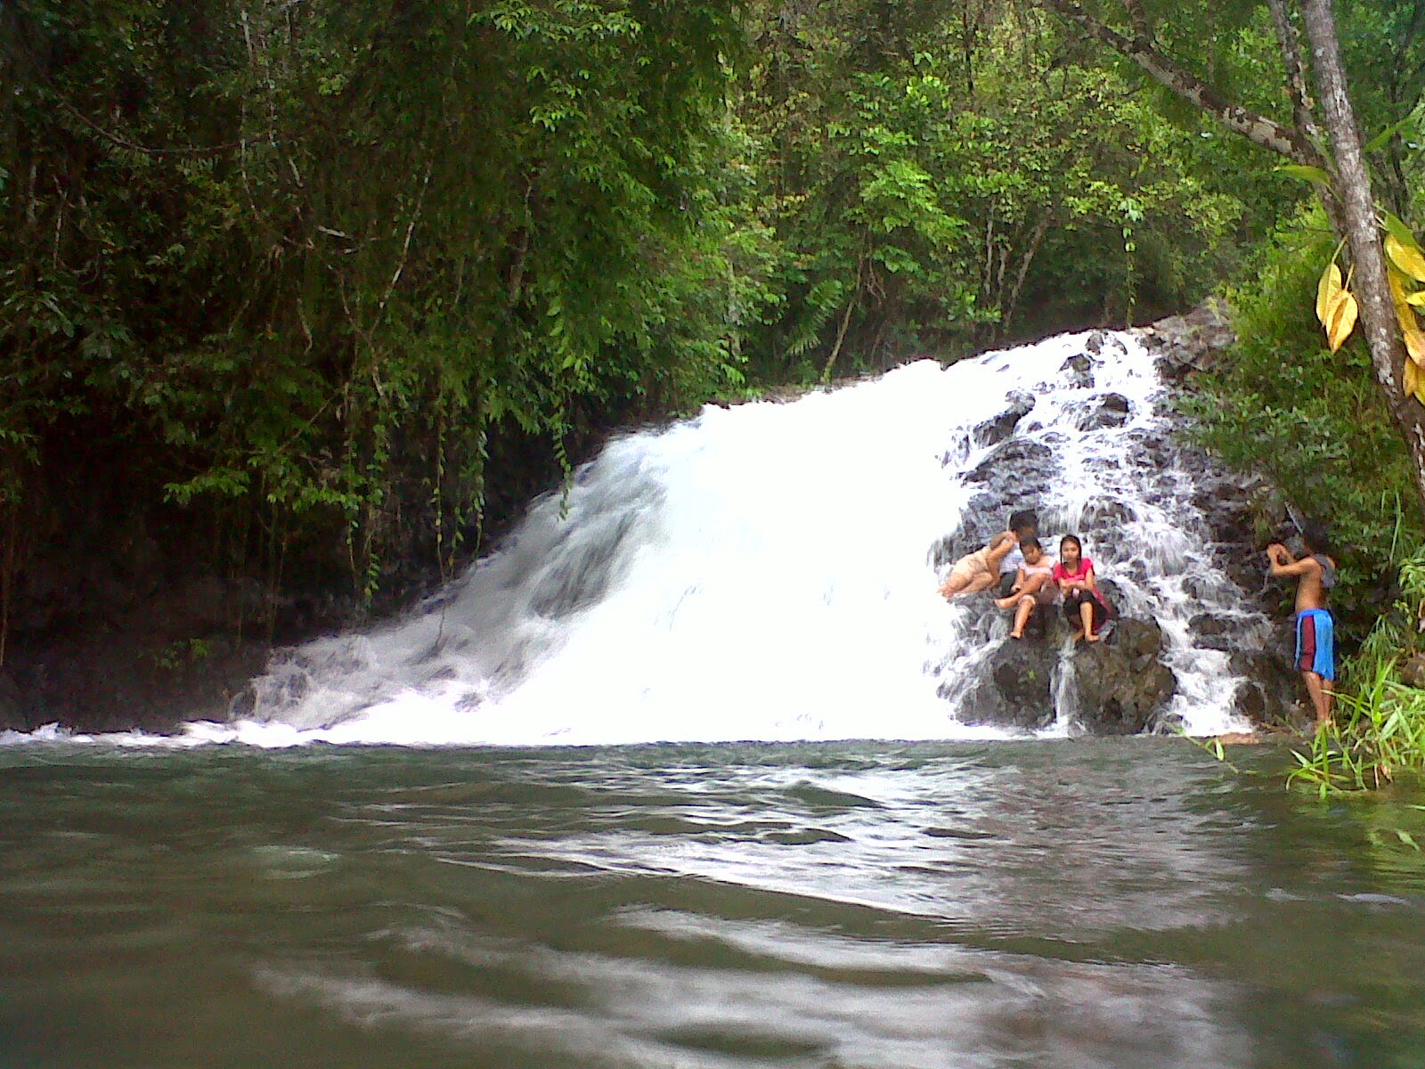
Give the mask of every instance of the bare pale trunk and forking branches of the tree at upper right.
[{"label": "bare pale trunk and forking branches of the tree at upper right", "polygon": [[[1415,493],[1425,505],[1425,408],[1405,392],[1405,346],[1396,331],[1385,257],[1365,167],[1362,143],[1347,87],[1345,67],[1337,38],[1331,0],[1268,0],[1268,13],[1278,36],[1282,74],[1292,101],[1292,120],[1282,123],[1243,107],[1226,93],[1170,58],[1156,43],[1154,26],[1143,0],[1123,0],[1126,30],[1110,26],[1073,0],[1037,0],[1046,10],[1070,21],[1089,38],[1106,44],[1133,61],[1160,84],[1227,128],[1287,160],[1330,175],[1324,188],[1327,211],[1345,238],[1355,269],[1361,299],[1361,324],[1377,382],[1414,460]],[[1295,33],[1300,20],[1310,44],[1310,63]],[[1305,70],[1314,76],[1321,98],[1320,125],[1330,141],[1331,155],[1320,150],[1317,113],[1307,93]]]}]

